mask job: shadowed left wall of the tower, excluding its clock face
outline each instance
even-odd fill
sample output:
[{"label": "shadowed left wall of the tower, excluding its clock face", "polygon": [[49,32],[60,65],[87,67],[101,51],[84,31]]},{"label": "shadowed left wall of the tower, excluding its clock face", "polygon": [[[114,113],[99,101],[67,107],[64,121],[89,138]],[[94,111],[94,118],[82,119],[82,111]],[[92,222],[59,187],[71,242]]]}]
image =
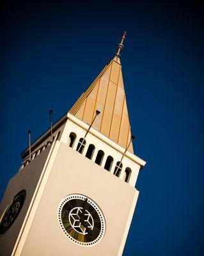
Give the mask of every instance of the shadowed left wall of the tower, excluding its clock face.
[{"label": "shadowed left wall of the tower, excluding its clock face", "polygon": [[0,254],[4,256],[10,256],[13,252],[13,247],[19,236],[20,229],[24,223],[29,205],[33,199],[36,186],[42,174],[43,166],[49,154],[51,147],[47,147],[39,156],[37,156],[28,166],[25,166],[23,170],[17,173],[10,180],[8,187],[6,188],[5,195],[1,202],[0,216],[2,216],[7,205],[12,202],[13,197],[19,193],[19,191],[25,190],[26,196],[22,209],[12,226],[0,236]]}]

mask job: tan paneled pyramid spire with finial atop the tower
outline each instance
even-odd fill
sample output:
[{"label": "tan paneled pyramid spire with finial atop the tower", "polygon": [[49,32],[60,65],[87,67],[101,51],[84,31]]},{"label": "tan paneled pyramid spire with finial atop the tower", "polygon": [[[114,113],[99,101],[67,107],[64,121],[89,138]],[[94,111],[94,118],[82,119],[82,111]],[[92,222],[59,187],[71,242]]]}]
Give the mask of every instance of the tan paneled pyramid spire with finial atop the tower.
[{"label": "tan paneled pyramid spire with finial atop the tower", "polygon": [[[131,138],[122,65],[119,58],[125,35],[126,32],[123,33],[122,40],[118,44],[114,59],[106,65],[69,111],[70,114],[89,125],[93,121],[95,111],[100,111],[92,127],[123,148],[127,148]],[[132,142],[128,150],[133,153]]]}]

